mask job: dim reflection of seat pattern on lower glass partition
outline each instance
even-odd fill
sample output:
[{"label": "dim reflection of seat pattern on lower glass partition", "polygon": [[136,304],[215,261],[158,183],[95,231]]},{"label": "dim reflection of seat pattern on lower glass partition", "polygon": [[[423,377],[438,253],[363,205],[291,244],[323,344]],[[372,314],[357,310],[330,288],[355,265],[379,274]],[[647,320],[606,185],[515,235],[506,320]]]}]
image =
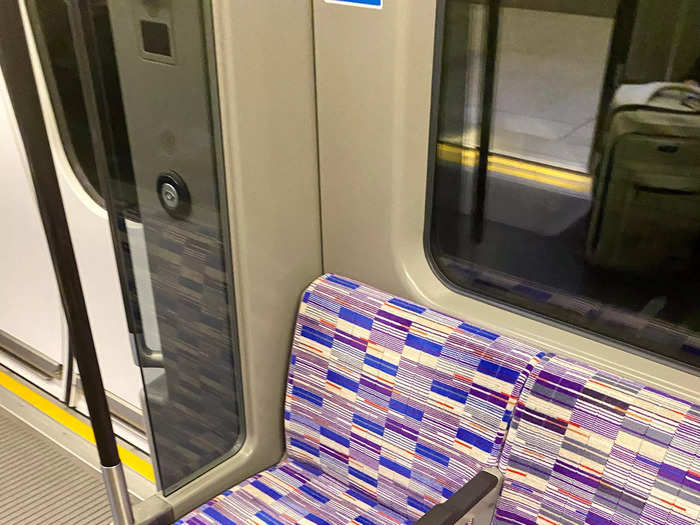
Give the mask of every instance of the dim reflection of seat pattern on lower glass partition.
[{"label": "dim reflection of seat pattern on lower glass partition", "polygon": [[220,230],[146,214],[166,403],[149,396],[161,479],[169,487],[237,442],[235,341]]}]

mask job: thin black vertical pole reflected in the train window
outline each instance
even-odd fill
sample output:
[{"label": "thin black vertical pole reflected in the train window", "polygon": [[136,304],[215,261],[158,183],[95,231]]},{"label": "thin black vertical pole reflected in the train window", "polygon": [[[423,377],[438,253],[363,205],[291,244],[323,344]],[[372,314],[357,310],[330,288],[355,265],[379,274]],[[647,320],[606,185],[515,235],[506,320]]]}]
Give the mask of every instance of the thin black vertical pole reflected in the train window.
[{"label": "thin black vertical pole reflected in the train window", "polygon": [[496,91],[496,55],[498,53],[498,28],[500,24],[500,0],[490,0],[486,34],[486,61],[481,86],[481,129],[479,132],[479,164],[476,169],[474,204],[472,206],[472,241],[480,243],[484,237],[486,211],[486,179],[489,170],[491,128],[493,124],[493,98]]}]

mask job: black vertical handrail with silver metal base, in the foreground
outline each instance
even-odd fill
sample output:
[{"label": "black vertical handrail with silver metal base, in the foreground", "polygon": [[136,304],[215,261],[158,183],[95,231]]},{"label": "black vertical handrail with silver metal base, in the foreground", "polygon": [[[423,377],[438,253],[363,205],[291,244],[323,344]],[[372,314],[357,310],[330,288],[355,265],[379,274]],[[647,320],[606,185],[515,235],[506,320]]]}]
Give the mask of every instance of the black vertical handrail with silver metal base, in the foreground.
[{"label": "black vertical handrail with silver metal base, in the foreground", "polygon": [[115,524],[130,525],[134,519],[124,472],[119,460],[85,297],[17,0],[0,2],[0,68],[7,83],[29,161],[112,515]]}]

